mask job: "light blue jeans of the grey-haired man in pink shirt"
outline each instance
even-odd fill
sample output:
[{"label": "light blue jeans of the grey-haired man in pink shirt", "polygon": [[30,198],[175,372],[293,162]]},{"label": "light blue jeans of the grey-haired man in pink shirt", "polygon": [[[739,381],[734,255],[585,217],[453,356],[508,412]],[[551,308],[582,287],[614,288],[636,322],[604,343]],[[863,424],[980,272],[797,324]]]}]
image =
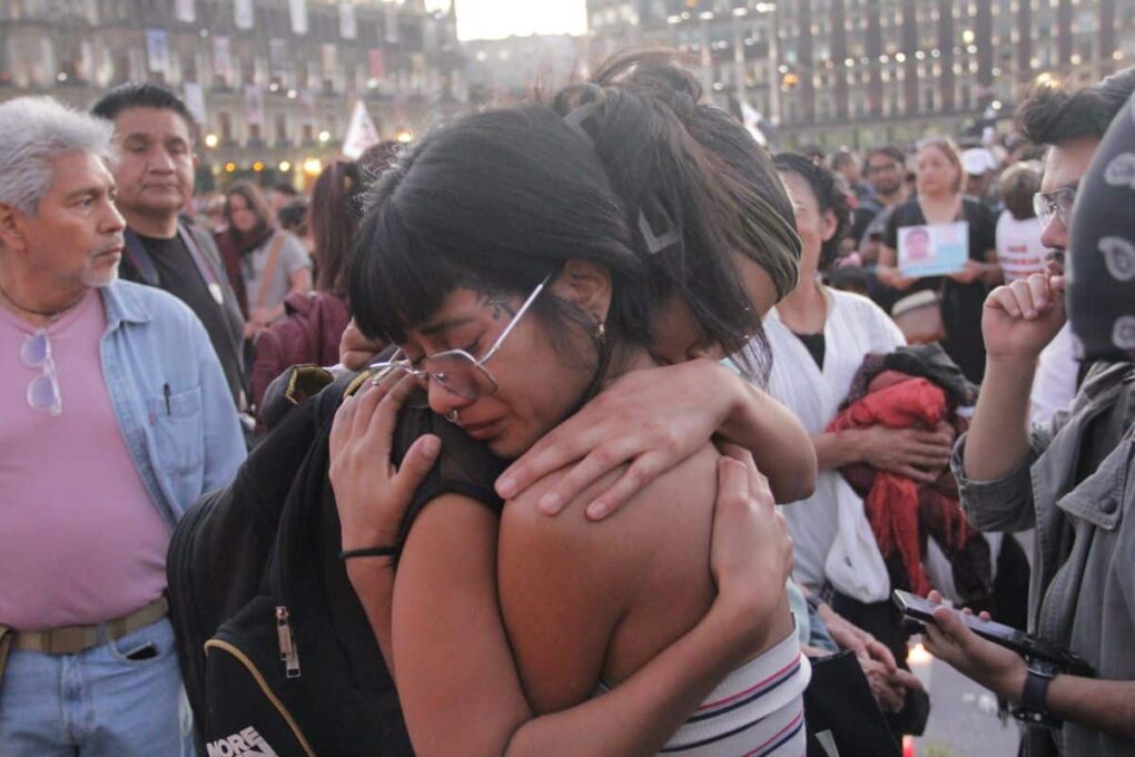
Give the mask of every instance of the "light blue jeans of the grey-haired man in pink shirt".
[{"label": "light blue jeans of the grey-haired man in pink shirt", "polygon": [[191,725],[166,619],[77,655],[12,650],[0,682],[0,757],[190,757]]}]

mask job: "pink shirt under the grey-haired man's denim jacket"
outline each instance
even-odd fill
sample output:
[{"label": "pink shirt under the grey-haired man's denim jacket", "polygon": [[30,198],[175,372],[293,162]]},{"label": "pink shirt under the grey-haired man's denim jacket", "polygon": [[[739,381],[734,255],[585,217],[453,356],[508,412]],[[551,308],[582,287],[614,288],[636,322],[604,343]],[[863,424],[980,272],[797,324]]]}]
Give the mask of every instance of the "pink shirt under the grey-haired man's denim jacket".
[{"label": "pink shirt under the grey-haired man's denim jacket", "polygon": [[0,308],[0,623],[101,623],[166,588],[169,527],[151,503],[110,404],[90,293],[48,329],[62,412],[27,404],[42,375],[20,359],[36,329]]}]

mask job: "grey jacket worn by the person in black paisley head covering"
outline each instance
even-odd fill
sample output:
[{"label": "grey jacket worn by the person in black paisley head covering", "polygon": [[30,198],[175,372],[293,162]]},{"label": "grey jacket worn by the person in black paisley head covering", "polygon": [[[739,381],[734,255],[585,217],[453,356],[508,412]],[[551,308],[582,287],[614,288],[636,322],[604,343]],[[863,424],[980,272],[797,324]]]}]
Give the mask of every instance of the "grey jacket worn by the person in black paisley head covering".
[{"label": "grey jacket worn by the person in black paisley head covering", "polygon": [[[951,466],[966,515],[982,531],[1036,529],[1028,630],[1075,651],[1101,679],[1135,681],[1135,365],[1100,363],[1068,410],[1033,428],[1031,452],[994,481],[965,476],[966,437]],[[1082,471],[1094,424],[1109,438]],[[1112,443],[1115,444],[1112,448]],[[1078,473],[1085,472],[1086,476]],[[1081,479],[1081,480],[1077,480]],[[1025,755],[1120,757],[1135,742],[1074,723],[1053,734],[1029,727]]]}]

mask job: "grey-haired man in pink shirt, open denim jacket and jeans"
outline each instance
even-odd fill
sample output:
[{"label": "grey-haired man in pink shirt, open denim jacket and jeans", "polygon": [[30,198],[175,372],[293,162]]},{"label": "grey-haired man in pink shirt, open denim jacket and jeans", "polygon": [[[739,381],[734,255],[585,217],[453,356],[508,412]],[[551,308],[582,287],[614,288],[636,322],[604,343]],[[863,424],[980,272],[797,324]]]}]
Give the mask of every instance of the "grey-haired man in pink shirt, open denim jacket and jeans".
[{"label": "grey-haired man in pink shirt, open denim jacket and jeans", "polygon": [[112,126],[0,106],[0,751],[191,754],[166,619],[186,507],[244,443],[197,318],[117,281]]}]

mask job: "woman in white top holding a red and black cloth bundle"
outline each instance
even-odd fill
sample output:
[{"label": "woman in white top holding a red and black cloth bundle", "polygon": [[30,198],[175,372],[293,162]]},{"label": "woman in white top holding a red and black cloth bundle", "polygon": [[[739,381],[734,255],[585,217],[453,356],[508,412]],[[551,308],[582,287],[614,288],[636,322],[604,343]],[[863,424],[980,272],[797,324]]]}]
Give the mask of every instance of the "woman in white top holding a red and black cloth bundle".
[{"label": "woman in white top holding a red and black cloth bundle", "polygon": [[[903,345],[903,338],[873,302],[819,281],[819,270],[832,260],[848,227],[847,200],[832,174],[792,154],[779,155],[776,167],[804,246],[799,284],[765,318],[773,353],[768,393],[813,435],[819,468],[815,494],[784,508],[796,544],[793,578],[814,594],[831,587],[836,595],[859,603],[889,603],[890,579],[863,499],[838,469],[864,462],[932,481],[936,478],[932,471],[947,464],[952,432],[882,427],[839,434],[824,430],[864,358],[892,352]],[[900,659],[905,656],[902,649],[892,651]]]}]

